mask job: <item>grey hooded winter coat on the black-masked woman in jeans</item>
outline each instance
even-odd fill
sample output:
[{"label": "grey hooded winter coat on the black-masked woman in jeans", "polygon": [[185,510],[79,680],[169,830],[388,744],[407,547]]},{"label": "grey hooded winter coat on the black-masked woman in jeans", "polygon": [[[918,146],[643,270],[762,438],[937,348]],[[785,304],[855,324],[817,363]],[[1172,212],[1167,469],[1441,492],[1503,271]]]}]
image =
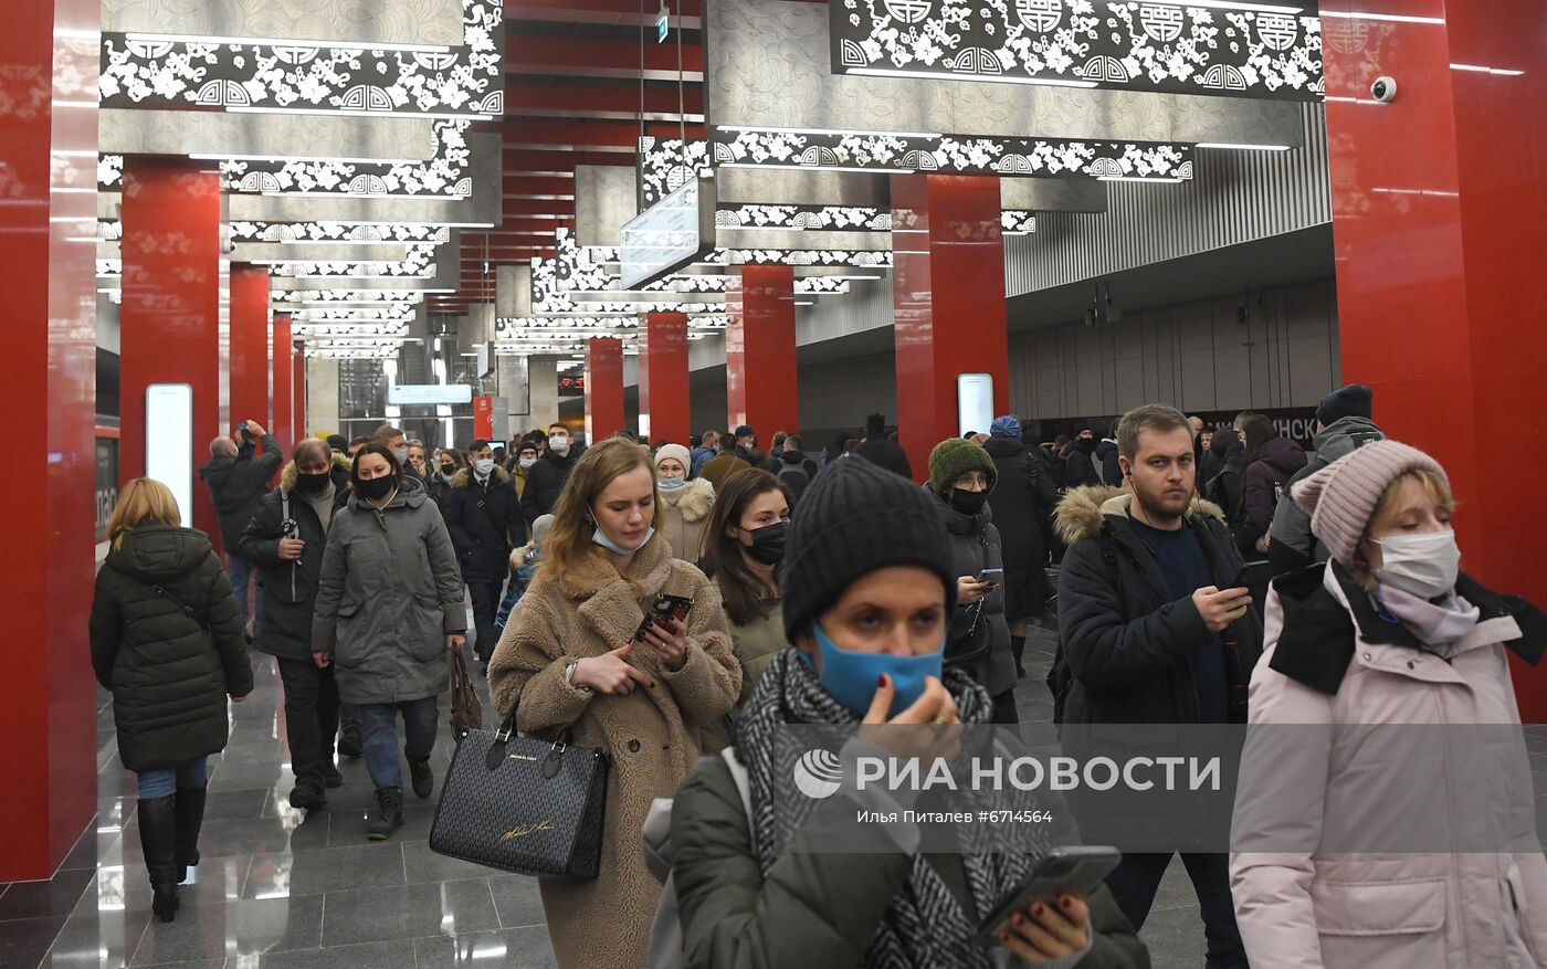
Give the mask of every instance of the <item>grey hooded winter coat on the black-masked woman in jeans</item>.
[{"label": "grey hooded winter coat on the black-masked woman in jeans", "polygon": [[322,557],[312,649],[333,656],[345,703],[401,703],[450,686],[447,633],[467,628],[463,576],[441,509],[416,478],[385,508],[351,495]]}]

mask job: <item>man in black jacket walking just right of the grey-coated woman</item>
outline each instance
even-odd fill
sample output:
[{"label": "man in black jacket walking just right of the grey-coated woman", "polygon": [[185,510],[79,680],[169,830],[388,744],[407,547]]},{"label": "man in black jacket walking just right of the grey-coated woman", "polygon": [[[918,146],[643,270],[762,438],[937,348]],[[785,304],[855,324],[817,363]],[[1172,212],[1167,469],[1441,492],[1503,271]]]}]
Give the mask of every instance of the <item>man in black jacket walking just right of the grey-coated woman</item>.
[{"label": "man in black jacket walking just right of the grey-coated woman", "polygon": [[511,574],[511,548],[526,543],[521,502],[511,475],[495,463],[489,441],[473,441],[467,449],[467,467],[456,472],[446,491],[446,531],[452,534],[456,563],[473,602],[473,628],[478,630],[473,647],[487,666],[495,647],[493,619]]}]

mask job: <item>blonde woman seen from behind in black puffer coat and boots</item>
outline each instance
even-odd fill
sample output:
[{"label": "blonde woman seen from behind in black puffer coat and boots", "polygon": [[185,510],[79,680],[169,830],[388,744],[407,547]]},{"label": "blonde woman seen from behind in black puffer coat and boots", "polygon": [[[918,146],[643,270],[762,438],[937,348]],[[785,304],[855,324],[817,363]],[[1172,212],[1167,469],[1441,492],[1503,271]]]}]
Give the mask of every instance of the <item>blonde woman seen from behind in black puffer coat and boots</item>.
[{"label": "blonde woman seen from behind in black puffer coat and boots", "polygon": [[226,749],[226,697],[252,692],[248,638],[209,537],[161,481],[124,484],[91,599],[91,667],[113,692],[118,754],[139,776],[139,841],[169,923],[198,864],[206,758]]}]

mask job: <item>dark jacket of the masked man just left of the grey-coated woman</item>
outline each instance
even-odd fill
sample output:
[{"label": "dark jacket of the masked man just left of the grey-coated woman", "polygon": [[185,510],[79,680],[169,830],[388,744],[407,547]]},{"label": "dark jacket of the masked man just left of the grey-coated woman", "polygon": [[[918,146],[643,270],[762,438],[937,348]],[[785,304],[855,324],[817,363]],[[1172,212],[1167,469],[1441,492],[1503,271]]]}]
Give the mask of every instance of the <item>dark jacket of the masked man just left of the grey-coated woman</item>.
[{"label": "dark jacket of the masked man just left of the grey-coated woman", "polygon": [[[322,553],[328,548],[328,529],[317,511],[299,491],[295,461],[285,466],[280,486],[263,495],[258,511],[241,532],[241,556],[257,567],[263,579],[263,622],[254,645],[271,656],[286,659],[311,659],[311,610],[317,597],[317,579],[322,576]],[[306,543],[300,559],[280,559],[280,539],[286,537],[285,505],[289,500],[289,517],[295,531],[288,537]],[[350,500],[348,478],[339,483],[333,477],[333,511],[337,512]]]}]

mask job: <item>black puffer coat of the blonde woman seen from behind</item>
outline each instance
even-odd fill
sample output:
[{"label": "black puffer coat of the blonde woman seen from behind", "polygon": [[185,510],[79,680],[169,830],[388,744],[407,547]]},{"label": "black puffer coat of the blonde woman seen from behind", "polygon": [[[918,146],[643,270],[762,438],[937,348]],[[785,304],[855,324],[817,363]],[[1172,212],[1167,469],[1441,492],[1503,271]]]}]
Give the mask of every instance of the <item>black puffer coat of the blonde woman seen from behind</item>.
[{"label": "black puffer coat of the blonde woman seen from behind", "polygon": [[231,579],[204,532],[144,525],[108,553],[91,599],[91,667],[113,690],[130,771],[226,748],[226,697],[252,692],[252,669]]}]

